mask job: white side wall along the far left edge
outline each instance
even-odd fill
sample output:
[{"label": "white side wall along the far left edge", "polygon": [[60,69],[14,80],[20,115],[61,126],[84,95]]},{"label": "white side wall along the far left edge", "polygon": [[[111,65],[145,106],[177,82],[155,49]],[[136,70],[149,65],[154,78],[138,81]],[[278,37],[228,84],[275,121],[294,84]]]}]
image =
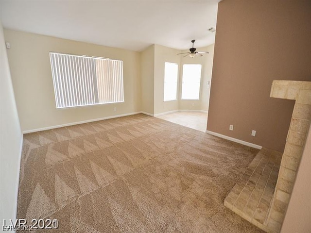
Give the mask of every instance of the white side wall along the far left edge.
[{"label": "white side wall along the far left edge", "polygon": [[7,53],[0,22],[0,226],[16,219],[20,153],[20,130]]}]

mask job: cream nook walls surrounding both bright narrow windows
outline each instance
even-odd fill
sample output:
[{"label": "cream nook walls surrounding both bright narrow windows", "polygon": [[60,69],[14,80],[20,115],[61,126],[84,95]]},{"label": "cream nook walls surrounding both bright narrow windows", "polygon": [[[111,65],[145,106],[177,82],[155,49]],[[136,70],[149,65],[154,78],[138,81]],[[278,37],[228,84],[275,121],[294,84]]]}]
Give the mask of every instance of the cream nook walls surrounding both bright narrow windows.
[{"label": "cream nook walls surrounding both bright narrow windows", "polygon": [[[199,51],[209,51],[202,57],[176,55],[189,50],[175,50],[161,45],[152,45],[141,52],[141,101],[142,111],[150,114],[161,114],[177,110],[207,111],[209,103],[209,89],[213,64],[214,45],[198,48]],[[178,64],[177,100],[164,101],[164,64],[172,62]],[[199,100],[181,100],[182,68],[183,64],[201,64],[201,86]]]}]

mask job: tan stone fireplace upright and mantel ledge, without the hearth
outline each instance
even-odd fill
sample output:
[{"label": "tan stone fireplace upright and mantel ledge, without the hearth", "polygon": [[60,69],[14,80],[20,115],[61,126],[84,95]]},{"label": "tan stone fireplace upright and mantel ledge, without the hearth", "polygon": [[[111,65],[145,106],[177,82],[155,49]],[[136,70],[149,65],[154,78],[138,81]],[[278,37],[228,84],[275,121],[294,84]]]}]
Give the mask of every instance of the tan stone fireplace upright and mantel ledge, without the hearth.
[{"label": "tan stone fireplace upright and mantel ledge, without the hearth", "polygon": [[311,123],[311,82],[274,80],[270,97],[295,100],[290,128],[286,138],[275,195],[268,217],[268,232],[281,229],[299,168],[302,151]]}]

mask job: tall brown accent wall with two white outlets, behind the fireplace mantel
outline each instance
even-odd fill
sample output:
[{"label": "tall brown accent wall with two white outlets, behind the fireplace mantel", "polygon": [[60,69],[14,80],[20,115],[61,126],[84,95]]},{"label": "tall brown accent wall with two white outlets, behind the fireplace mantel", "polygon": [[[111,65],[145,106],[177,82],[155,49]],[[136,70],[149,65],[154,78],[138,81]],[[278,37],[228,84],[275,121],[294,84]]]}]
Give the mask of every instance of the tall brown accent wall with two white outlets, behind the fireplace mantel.
[{"label": "tall brown accent wall with two white outlets, behind the fireplace mantel", "polygon": [[221,1],[207,130],[282,152],[294,101],[275,79],[311,81],[311,1]]}]

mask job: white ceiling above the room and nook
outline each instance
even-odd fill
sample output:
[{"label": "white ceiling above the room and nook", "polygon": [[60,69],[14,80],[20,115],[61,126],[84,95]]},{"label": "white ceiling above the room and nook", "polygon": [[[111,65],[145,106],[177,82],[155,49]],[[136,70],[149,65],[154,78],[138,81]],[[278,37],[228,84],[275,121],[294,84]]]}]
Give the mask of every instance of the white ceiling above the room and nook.
[{"label": "white ceiling above the room and nook", "polygon": [[214,43],[220,0],[0,0],[4,28],[141,51]]}]

